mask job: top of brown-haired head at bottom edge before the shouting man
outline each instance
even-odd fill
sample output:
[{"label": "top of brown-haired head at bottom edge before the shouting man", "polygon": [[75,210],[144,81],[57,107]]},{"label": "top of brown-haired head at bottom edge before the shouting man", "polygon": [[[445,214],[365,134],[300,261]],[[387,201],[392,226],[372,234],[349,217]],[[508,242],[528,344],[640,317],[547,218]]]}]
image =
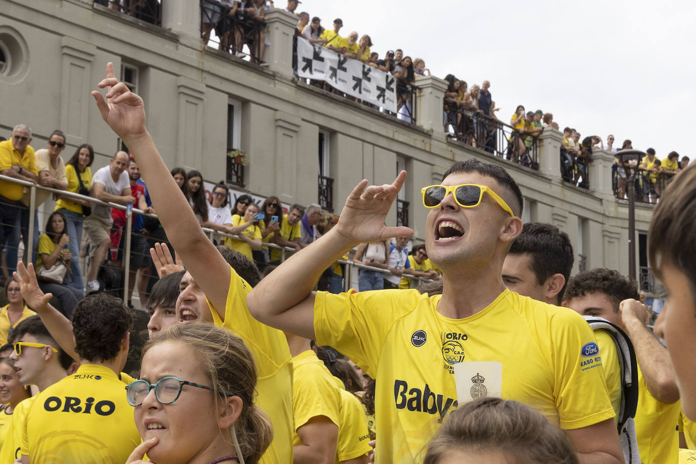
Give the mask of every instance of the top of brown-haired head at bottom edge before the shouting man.
[{"label": "top of brown-haired head at bottom edge before the shouting man", "polygon": [[577,464],[566,435],[517,401],[481,398],[459,406],[428,445],[423,464]]}]

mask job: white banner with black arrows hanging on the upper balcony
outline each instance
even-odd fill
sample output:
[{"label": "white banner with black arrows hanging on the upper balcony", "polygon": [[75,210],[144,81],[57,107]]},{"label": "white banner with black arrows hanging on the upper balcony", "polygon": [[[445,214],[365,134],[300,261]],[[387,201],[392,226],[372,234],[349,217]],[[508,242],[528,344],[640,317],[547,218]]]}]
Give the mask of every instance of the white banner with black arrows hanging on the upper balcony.
[{"label": "white banner with black arrows hanging on the upper balcony", "polygon": [[340,92],[396,112],[396,78],[333,50],[297,38],[299,77],[326,81]]}]

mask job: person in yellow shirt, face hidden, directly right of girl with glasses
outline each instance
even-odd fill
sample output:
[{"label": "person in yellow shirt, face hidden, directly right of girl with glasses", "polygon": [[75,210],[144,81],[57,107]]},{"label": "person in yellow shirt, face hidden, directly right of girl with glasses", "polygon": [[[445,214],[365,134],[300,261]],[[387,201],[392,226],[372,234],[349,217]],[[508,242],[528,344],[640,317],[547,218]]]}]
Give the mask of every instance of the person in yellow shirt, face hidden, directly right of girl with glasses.
[{"label": "person in yellow shirt, face hidden, directly right of girl with glasses", "polygon": [[338,463],[340,392],[310,340],[285,334],[292,354],[294,463]]}]

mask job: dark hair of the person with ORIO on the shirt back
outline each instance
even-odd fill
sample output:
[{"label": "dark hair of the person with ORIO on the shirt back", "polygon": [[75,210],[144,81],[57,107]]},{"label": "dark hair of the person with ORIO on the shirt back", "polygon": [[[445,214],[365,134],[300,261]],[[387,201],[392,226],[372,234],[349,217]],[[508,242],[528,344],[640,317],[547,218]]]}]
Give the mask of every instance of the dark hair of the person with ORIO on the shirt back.
[{"label": "dark hair of the person with ORIO on the shirt back", "polygon": [[116,358],[133,322],[123,301],[105,293],[83,298],[72,312],[75,351],[81,359],[103,362]]}]

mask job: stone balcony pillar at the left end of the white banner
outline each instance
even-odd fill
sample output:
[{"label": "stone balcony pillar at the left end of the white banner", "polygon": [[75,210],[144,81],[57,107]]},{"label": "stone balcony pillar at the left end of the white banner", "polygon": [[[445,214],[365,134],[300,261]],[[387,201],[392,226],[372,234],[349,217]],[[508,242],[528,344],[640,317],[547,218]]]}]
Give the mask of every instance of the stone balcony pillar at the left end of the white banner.
[{"label": "stone balcony pillar at the left end of the white banner", "polygon": [[266,21],[266,37],[271,45],[264,50],[264,61],[269,69],[286,77],[292,78],[292,38],[298,19],[292,13],[280,8],[268,10],[264,16]]}]

